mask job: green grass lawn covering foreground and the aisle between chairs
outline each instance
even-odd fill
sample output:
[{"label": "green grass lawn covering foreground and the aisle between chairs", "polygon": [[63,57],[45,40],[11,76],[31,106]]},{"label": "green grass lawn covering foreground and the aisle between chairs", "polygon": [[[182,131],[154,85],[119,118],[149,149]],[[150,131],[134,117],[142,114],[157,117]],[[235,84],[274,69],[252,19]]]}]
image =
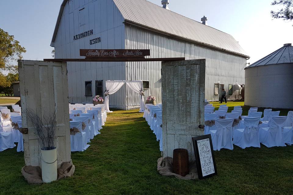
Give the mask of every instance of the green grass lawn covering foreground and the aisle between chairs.
[{"label": "green grass lawn covering foreground and the aisle between chairs", "polygon": [[[229,102],[228,106],[242,102]],[[231,104],[231,105],[230,105]],[[247,112],[247,111],[246,111]],[[28,185],[23,152],[0,152],[0,194],[292,194],[293,146],[215,151],[218,176],[185,181],[161,176],[159,142],[138,110],[108,114],[101,134],[71,154],[73,177]]]}]

